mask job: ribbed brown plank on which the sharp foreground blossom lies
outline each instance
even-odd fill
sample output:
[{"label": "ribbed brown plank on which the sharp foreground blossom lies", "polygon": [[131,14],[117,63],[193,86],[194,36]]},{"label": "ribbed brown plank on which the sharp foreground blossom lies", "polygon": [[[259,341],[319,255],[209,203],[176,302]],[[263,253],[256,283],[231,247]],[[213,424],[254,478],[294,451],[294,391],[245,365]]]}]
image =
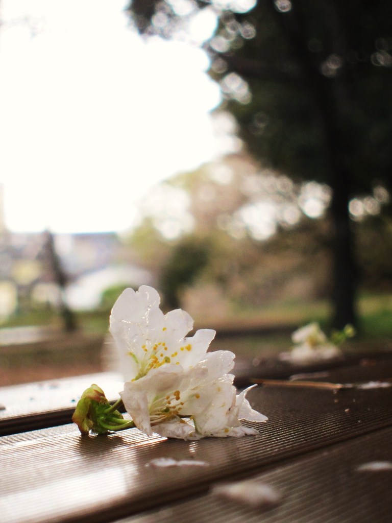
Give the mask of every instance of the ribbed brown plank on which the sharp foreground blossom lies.
[{"label": "ribbed brown plank on which the sharp foreground blossom lies", "polygon": [[[200,441],[147,438],[137,429],[81,437],[64,425],[0,438],[3,523],[109,522],[206,492],[220,480],[392,425],[392,389],[258,388],[253,407],[269,416],[260,436]],[[256,424],[257,426],[257,424]],[[156,469],[156,458],[205,467]]]}]

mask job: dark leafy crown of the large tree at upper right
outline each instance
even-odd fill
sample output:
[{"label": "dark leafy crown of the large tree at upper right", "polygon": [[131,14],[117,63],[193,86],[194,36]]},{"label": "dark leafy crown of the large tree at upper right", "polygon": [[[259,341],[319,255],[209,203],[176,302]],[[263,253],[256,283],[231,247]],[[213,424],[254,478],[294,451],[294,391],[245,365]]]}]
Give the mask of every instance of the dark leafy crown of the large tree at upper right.
[{"label": "dark leafy crown of the large tree at upper right", "polygon": [[235,16],[256,35],[222,58],[246,79],[252,99],[229,101],[228,108],[256,157],[291,176],[333,185],[331,155],[339,154],[352,196],[370,191],[375,179],[390,187],[390,11],[386,1],[304,0],[278,13],[264,0]]}]

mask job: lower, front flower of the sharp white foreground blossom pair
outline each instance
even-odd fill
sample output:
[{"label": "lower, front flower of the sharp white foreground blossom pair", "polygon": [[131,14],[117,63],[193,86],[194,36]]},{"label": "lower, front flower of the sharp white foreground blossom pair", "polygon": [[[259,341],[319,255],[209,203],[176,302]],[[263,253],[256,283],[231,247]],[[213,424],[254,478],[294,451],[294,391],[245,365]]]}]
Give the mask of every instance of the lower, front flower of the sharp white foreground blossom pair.
[{"label": "lower, front flower of the sharp white foreground blossom pair", "polygon": [[144,378],[125,383],[121,393],[125,408],[147,435],[154,431],[171,438],[199,439],[258,434],[241,425],[240,419],[264,422],[267,417],[250,407],[247,390],[236,394],[232,374],[221,374],[232,367],[233,358],[229,351],[216,351],[187,371],[174,365],[153,369]]}]

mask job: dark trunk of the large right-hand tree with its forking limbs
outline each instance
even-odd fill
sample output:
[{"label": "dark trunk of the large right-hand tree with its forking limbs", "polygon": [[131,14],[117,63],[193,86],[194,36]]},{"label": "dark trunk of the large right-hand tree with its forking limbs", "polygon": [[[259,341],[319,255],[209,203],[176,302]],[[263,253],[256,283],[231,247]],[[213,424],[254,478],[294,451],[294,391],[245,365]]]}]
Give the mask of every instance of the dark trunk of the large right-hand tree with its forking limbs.
[{"label": "dark trunk of the large right-hand tree with its forking limbs", "polygon": [[[268,4],[271,13],[283,27],[286,39],[301,66],[304,89],[309,90],[314,112],[324,135],[325,161],[329,170],[328,184],[332,189],[331,254],[332,274],[332,326],[342,328],[348,323],[358,323],[355,310],[355,289],[357,269],[353,253],[354,233],[350,224],[349,202],[352,188],[351,174],[344,167],[345,136],[341,130],[344,118],[353,110],[350,92],[351,81],[344,70],[335,77],[326,77],[315,66],[312,54],[307,48],[306,36],[301,30],[306,10],[301,13],[295,4],[288,16],[276,13],[272,2]],[[295,8],[297,7],[297,8]],[[324,25],[329,35],[329,48],[339,56],[345,56],[348,44],[344,27],[344,16],[339,2],[325,0],[320,3]]]}]

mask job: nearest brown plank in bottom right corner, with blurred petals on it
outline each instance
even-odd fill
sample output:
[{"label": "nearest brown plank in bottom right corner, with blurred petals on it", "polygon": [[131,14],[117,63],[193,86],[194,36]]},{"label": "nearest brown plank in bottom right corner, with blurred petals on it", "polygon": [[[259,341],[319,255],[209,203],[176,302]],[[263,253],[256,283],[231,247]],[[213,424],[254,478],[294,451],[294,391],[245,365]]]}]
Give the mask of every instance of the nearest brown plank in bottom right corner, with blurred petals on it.
[{"label": "nearest brown plank in bottom right corner, with blurred petals on it", "polygon": [[[391,440],[391,428],[378,430],[117,523],[390,523]],[[228,487],[243,495],[228,497]]]}]

